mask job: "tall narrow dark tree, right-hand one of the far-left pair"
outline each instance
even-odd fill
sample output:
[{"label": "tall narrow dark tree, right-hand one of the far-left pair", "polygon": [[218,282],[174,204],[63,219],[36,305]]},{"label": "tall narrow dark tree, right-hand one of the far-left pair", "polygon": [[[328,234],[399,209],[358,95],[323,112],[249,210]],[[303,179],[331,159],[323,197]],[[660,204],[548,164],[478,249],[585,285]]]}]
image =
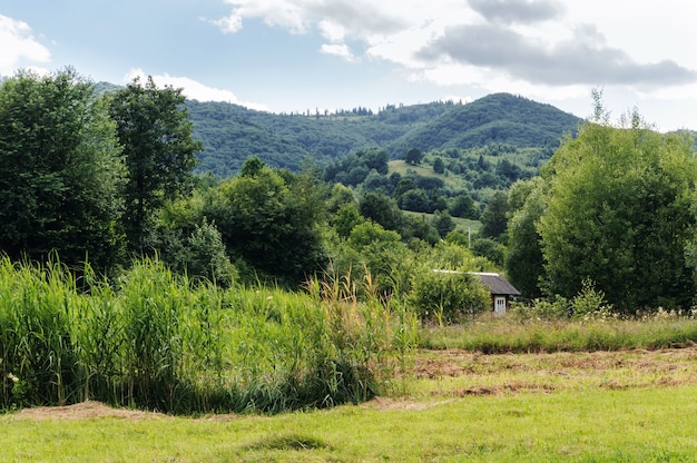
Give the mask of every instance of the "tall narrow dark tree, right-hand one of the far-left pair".
[{"label": "tall narrow dark tree, right-hand one of the far-left pair", "polygon": [[165,200],[193,186],[203,145],[192,138],[184,102],[181,89],[159,89],[151,77],[145,86],[136,78],[111,96],[109,112],[128,166],[124,228],[131,250],[145,250],[154,213]]}]

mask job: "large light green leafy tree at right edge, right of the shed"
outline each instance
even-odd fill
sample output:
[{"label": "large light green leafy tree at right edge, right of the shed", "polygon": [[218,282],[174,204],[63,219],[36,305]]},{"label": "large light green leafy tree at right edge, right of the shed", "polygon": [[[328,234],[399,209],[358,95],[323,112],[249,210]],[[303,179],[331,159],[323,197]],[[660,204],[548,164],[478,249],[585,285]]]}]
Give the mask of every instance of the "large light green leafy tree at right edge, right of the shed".
[{"label": "large light green leafy tree at right edge, right of the shed", "polygon": [[573,297],[589,278],[616,308],[689,307],[695,236],[693,140],[650,130],[638,114],[612,127],[596,119],[547,166],[549,195],[538,232],[550,292]]}]

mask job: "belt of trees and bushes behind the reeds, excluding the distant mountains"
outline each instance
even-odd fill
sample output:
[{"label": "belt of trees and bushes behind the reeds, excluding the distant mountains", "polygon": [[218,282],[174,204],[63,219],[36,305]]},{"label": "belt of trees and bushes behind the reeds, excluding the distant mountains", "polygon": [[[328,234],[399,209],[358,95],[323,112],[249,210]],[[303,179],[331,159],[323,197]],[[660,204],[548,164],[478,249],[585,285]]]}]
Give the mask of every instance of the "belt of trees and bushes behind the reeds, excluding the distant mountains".
[{"label": "belt of trees and bushes behind the reeds, excluding the distant mountains", "polygon": [[[438,177],[390,174],[380,148],[300,173],[249,157],[235,176],[195,176],[203,147],[179,89],[147,79],[97,93],[71,69],[22,71],[0,86],[0,249],[30,262],[55,252],[107,275],[157,255],[220,285],[295,288],[317,273],[409,292],[433,268],[505,269],[530,298],[595,288],[625,313],[690,307],[694,139],[658,134],[637,114],[613,125],[596,105],[539,176],[516,178],[481,210]],[[481,235],[455,229],[455,215],[481,219]]]}]

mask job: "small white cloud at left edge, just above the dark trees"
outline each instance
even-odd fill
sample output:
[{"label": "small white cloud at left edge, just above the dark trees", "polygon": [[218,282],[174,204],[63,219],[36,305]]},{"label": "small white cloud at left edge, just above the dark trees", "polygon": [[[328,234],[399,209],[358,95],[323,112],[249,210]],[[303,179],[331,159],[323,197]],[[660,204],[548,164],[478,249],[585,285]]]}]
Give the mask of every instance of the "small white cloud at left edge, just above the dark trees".
[{"label": "small white cloud at left edge, just above the dark trees", "polygon": [[50,51],[33,38],[29,24],[2,14],[0,43],[0,73],[3,75],[13,73],[20,67],[29,68],[33,63],[51,60]]}]

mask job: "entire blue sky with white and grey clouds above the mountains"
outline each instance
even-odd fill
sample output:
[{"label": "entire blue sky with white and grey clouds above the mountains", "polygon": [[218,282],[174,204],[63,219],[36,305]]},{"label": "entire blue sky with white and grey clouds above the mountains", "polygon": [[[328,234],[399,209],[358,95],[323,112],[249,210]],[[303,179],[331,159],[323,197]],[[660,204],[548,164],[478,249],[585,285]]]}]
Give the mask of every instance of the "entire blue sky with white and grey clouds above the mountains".
[{"label": "entire blue sky with white and grey clouds above the mountains", "polygon": [[697,129],[694,0],[0,0],[0,75],[153,75],[269,111],[508,91]]}]

